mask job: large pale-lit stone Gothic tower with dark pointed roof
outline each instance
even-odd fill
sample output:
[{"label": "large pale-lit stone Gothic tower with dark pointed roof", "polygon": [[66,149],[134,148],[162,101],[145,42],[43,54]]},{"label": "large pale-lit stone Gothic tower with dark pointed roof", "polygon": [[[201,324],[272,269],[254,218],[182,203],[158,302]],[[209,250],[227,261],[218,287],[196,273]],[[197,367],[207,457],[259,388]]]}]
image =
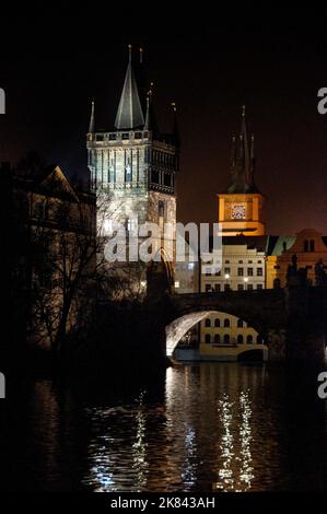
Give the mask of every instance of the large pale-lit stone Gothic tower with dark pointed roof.
[{"label": "large pale-lit stone Gothic tower with dark pointed roof", "polygon": [[[114,203],[115,221],[132,230],[144,222],[176,224],[176,175],[178,172],[178,131],[173,109],[172,133],[161,133],[153,113],[152,84],[142,84],[143,51],[132,62],[131,46],[124,86],[117,108],[115,129],[95,128],[94,103],[87,133],[87,165],[91,189],[97,201],[107,195]],[[174,254],[175,230],[171,236]],[[163,253],[161,242],[157,250]],[[174,255],[165,256],[174,261]]]}]

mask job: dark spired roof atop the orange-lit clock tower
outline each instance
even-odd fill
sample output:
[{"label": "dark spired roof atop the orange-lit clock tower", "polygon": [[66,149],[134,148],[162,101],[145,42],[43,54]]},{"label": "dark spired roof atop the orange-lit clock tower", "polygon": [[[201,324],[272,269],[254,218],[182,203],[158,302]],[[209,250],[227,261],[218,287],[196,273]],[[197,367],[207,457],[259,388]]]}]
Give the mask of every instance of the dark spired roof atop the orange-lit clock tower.
[{"label": "dark spired roof atop the orange-lit clock tower", "polygon": [[259,192],[254,182],[255,171],[255,140],[248,138],[245,105],[242,107],[242,122],[240,138],[233,138],[233,151],[231,162],[232,180],[227,192],[245,194]]}]

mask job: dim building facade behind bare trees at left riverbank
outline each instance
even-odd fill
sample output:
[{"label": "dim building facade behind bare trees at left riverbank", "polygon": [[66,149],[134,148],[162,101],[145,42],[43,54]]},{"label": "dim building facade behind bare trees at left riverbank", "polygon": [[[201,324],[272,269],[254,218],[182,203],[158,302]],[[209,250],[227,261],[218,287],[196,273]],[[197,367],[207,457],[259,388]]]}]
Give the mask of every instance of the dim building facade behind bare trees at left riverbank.
[{"label": "dim building facade behind bare trees at left riverbank", "polygon": [[12,326],[17,343],[57,350],[92,323],[95,197],[59,166],[10,173]]}]

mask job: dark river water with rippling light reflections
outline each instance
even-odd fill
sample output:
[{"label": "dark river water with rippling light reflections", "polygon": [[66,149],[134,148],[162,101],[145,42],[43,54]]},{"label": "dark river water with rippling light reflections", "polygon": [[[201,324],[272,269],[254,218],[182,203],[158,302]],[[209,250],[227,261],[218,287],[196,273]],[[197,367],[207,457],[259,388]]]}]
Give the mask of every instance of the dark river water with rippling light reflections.
[{"label": "dark river water with rippling light reflections", "polygon": [[151,379],[9,384],[7,396],[1,490],[327,490],[316,370],[199,363]]}]

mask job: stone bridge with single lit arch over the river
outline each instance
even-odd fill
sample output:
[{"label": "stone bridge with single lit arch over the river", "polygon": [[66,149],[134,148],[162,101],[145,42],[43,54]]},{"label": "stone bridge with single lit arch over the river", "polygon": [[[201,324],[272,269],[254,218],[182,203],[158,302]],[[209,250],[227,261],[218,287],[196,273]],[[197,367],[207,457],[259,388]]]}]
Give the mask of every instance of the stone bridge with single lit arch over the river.
[{"label": "stone bridge with single lit arch over the river", "polygon": [[326,287],[168,295],[166,353],[172,354],[180,338],[213,312],[232,314],[255,328],[265,338],[271,361],[325,355]]}]

